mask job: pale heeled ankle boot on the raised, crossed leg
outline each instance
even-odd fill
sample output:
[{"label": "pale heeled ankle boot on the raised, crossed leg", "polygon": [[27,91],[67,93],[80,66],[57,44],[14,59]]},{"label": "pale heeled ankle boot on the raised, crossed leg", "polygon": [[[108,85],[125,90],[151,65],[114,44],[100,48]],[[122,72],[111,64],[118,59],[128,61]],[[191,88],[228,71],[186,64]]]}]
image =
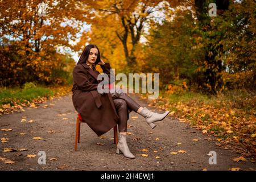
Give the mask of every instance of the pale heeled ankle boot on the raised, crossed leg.
[{"label": "pale heeled ankle boot on the raised, crossed leg", "polygon": [[150,125],[152,129],[154,129],[154,127],[156,126],[154,122],[162,121],[169,114],[169,112],[170,111],[166,111],[163,114],[158,114],[158,113],[151,112],[146,107],[144,107],[141,110],[141,113],[139,114],[141,114],[144,118],[146,118],[146,122],[148,123],[148,125]]}]

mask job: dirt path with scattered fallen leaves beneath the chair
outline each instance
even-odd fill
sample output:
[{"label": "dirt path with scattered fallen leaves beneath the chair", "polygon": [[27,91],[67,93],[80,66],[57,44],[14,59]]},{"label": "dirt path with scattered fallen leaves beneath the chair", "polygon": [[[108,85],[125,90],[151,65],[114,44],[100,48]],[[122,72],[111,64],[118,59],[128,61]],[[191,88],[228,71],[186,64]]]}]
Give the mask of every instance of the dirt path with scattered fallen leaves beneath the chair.
[{"label": "dirt path with scattered fallen leaves beneath the chair", "polygon": [[[131,97],[142,106],[147,106],[147,103],[139,100],[137,96]],[[233,162],[230,159],[240,155],[221,149],[216,145],[216,138],[201,134],[187,123],[181,123],[171,117],[158,122],[158,126],[152,130],[141,115],[130,113],[128,125],[133,127],[128,128],[131,134],[128,135],[127,142],[136,158],[127,159],[123,155],[115,154],[115,145],[111,139],[113,130],[104,134],[106,138],[100,138],[86,123],[81,124],[80,144],[78,151],[74,151],[77,113],[71,94],[47,101],[38,105],[38,108],[27,107],[24,110],[21,113],[0,116],[0,137],[9,139],[0,144],[0,170],[229,170],[233,167],[242,170],[256,169],[255,163],[250,161]],[[22,118],[26,121],[21,122]],[[29,122],[31,119],[33,122]],[[47,133],[51,130],[55,133]],[[43,139],[35,140],[34,137]],[[105,144],[97,145],[98,142]],[[27,151],[3,152],[4,148],[27,148]],[[143,148],[148,152],[141,151]],[[178,152],[179,150],[186,153]],[[46,152],[46,164],[38,164],[39,151]],[[216,165],[209,164],[209,151],[216,151]],[[178,153],[174,155],[170,152]],[[27,155],[31,154],[36,156],[28,158]],[[141,154],[148,156],[143,157]],[[155,159],[156,156],[160,158]],[[50,160],[52,158],[57,160]],[[15,164],[5,164],[8,159]]]}]

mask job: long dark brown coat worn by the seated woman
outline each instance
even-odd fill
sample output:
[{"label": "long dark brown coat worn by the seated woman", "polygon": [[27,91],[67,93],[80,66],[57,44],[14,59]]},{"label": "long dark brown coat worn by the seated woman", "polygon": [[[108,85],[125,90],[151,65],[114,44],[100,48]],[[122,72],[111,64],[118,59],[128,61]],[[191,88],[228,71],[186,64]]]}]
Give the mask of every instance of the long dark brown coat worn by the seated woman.
[{"label": "long dark brown coat worn by the seated woman", "polygon": [[[110,64],[100,65],[103,72],[109,75]],[[112,129],[118,123],[118,114],[110,93],[100,94],[97,85],[100,74],[87,64],[79,64],[73,69],[72,101],[76,111],[89,127],[98,135]]]}]

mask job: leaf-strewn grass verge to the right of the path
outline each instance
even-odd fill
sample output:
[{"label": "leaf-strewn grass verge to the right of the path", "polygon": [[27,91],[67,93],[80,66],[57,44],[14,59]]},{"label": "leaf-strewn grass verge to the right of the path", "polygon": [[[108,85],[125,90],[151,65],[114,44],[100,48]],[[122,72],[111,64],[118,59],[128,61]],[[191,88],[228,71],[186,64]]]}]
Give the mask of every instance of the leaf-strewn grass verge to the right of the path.
[{"label": "leaf-strewn grass verge to the right of the path", "polygon": [[221,138],[222,145],[231,144],[245,156],[256,156],[255,100],[255,92],[249,90],[229,90],[212,96],[162,90],[158,99],[149,103],[171,111],[172,117],[188,122],[206,135]]}]

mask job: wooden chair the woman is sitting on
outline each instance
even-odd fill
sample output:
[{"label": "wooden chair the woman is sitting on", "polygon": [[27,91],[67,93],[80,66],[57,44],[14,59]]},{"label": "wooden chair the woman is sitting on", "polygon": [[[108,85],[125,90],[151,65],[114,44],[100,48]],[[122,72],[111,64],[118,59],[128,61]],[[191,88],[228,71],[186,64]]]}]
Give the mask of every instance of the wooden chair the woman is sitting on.
[{"label": "wooden chair the woman is sitting on", "polygon": [[[80,114],[77,114],[76,118],[76,140],[75,140],[75,151],[77,151],[77,143],[80,143],[80,124],[85,123]],[[118,143],[117,126],[114,126],[114,144]]]}]

